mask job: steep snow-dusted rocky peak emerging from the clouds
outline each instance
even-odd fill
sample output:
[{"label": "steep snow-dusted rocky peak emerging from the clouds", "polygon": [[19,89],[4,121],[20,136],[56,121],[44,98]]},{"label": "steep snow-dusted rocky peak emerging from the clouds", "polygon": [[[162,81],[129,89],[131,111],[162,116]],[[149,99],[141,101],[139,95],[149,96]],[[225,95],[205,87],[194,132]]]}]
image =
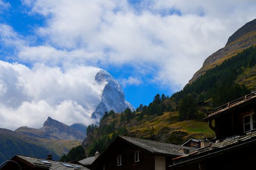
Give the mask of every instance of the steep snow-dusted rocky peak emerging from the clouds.
[{"label": "steep snow-dusted rocky peak emerging from the clouds", "polygon": [[101,102],[97,106],[96,110],[92,114],[92,118],[99,119],[104,112],[114,110],[115,112],[122,112],[127,107],[134,110],[133,106],[125,101],[124,93],[117,80],[115,80],[107,71],[100,70],[95,80],[99,84],[106,84],[101,95]]}]

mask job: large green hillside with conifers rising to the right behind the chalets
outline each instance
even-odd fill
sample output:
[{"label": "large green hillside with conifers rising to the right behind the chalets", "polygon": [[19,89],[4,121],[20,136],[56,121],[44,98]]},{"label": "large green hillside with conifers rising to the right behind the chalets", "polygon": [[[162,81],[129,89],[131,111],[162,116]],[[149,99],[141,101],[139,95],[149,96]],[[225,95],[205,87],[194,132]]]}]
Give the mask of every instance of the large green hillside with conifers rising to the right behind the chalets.
[{"label": "large green hillside with conifers rising to the right behind the chalets", "polygon": [[136,112],[109,113],[99,126],[88,126],[82,142],[86,153],[103,152],[117,135],[173,144],[214,138],[215,132],[202,119],[212,108],[256,89],[255,21],[231,35],[226,46],[209,56],[193,79],[169,99],[156,101],[156,95],[150,105]]}]

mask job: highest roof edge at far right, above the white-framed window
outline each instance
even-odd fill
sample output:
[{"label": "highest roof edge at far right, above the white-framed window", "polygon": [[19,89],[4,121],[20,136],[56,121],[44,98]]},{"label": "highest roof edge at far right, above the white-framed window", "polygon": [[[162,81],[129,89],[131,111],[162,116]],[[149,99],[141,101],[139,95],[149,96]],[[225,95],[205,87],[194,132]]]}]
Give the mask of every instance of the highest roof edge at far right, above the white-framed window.
[{"label": "highest roof edge at far right, above the white-framed window", "polygon": [[247,104],[250,104],[252,102],[256,102],[256,92],[252,92],[248,95],[243,96],[242,98],[239,98],[237,100],[228,102],[224,105],[221,105],[217,108],[214,109],[214,112],[212,112],[211,114],[209,114],[205,119],[209,119],[212,117],[217,117],[223,113],[226,113],[230,110],[233,110],[237,107],[241,107]]}]

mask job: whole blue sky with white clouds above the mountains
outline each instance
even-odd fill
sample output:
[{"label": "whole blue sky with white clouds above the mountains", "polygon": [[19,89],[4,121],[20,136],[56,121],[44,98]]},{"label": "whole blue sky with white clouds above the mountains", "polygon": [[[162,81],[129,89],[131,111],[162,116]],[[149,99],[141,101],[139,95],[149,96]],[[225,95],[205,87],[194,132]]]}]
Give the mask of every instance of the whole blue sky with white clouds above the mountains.
[{"label": "whole blue sky with white clouds above the mountains", "polygon": [[170,96],[255,11],[250,0],[0,0],[0,127],[94,123],[99,69],[135,108]]}]

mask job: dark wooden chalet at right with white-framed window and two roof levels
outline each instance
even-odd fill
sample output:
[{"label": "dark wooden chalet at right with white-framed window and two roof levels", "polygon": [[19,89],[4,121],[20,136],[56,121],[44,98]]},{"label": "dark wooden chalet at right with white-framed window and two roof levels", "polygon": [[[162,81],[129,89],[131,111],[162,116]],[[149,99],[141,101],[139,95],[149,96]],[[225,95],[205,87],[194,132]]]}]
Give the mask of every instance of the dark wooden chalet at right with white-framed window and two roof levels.
[{"label": "dark wooden chalet at right with white-framed window and two roof levels", "polygon": [[255,92],[216,108],[205,118],[216,142],[174,158],[169,169],[255,169],[255,110]]}]

